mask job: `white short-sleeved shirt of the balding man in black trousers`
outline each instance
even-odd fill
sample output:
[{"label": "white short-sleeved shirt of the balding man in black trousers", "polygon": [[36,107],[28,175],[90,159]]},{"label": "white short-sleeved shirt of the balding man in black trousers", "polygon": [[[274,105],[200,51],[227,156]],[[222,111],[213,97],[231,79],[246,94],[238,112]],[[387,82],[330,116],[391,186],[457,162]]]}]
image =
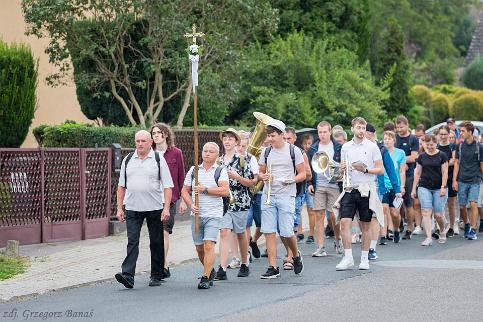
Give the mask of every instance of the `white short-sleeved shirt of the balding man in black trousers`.
[{"label": "white short-sleeved shirt of the balding man in black trousers", "polygon": [[[124,195],[126,210],[152,211],[163,209],[164,189],[173,188],[173,180],[166,160],[161,155],[159,156],[160,169],[158,169],[152,149],[143,160],[139,158],[137,151],[135,151],[126,169],[126,158],[122,161],[119,175],[119,186],[125,188],[126,178],[124,173],[127,175],[127,188]],[[159,180],[159,170],[161,170],[161,180]]]}]

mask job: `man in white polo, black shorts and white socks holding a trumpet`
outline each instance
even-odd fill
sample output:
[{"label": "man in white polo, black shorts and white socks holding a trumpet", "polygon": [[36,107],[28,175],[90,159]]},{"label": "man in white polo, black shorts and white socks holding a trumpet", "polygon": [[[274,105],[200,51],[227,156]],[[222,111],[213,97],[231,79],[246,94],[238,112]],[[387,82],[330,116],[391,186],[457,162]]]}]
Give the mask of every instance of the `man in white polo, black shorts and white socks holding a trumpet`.
[{"label": "man in white polo, black shorts and white socks holding a trumpet", "polygon": [[340,171],[344,173],[344,190],[334,204],[334,212],[340,219],[344,257],[336,266],[343,271],[354,266],[351,245],[351,222],[356,212],[362,231],[362,252],[359,269],[369,269],[370,223],[373,214],[384,225],[382,205],[376,189],[376,176],[384,174],[381,151],[365,137],[367,122],[362,117],[352,120],[351,141],[342,146]]}]

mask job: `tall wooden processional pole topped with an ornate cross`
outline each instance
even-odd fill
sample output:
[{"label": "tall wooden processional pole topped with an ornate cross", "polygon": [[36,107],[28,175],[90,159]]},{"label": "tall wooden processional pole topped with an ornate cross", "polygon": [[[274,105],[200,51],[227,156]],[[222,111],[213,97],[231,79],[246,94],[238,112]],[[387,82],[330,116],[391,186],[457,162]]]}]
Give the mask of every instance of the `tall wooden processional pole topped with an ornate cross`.
[{"label": "tall wooden processional pole topped with an ornate cross", "polygon": [[[196,39],[204,37],[205,34],[202,32],[196,32],[196,25],[193,24],[191,28],[192,33],[186,33],[184,36],[186,38],[192,38],[193,43],[189,46],[189,60],[191,62],[191,83],[192,83],[192,94],[193,94],[193,134],[194,134],[194,179],[195,183],[194,186],[198,185],[198,94],[196,92],[196,86],[198,86],[198,62],[200,60],[199,56],[199,46],[196,44]],[[195,191],[195,206],[198,208],[199,206],[199,195],[198,192]],[[198,208],[199,209],[199,208]],[[199,232],[200,227],[200,219],[199,214],[195,213],[195,234]]]}]

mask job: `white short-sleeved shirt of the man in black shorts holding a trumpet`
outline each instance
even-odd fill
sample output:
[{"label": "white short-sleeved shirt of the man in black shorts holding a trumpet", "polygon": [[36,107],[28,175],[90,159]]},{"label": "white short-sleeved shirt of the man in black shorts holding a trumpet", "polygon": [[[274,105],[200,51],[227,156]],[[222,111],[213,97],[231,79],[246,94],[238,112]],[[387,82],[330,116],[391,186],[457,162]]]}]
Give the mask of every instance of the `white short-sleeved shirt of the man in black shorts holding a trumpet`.
[{"label": "white short-sleeved shirt of the man in black shorts holding a trumpet", "polygon": [[[361,143],[356,143],[354,140],[346,142],[342,146],[341,156],[342,160],[346,160],[348,164],[359,161],[363,162],[368,169],[375,168],[375,161],[382,160],[381,150],[377,144],[366,138]],[[362,173],[357,170],[350,171],[351,185],[374,182],[376,178],[375,174]]]}]

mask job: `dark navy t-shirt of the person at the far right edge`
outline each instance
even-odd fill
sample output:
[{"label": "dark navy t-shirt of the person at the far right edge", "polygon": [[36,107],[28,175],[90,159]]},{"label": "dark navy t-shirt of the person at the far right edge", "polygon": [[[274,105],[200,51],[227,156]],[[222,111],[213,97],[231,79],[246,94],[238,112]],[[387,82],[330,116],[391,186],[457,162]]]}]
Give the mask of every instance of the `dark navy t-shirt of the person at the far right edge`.
[{"label": "dark navy t-shirt of the person at the far right edge", "polygon": [[[460,145],[461,145],[461,157],[460,157]],[[479,156],[478,160],[478,150]],[[479,183],[481,178],[480,163],[483,158],[483,145],[473,141],[471,144],[466,141],[456,146],[456,160],[458,160],[459,171],[458,181],[465,183]]]}]

